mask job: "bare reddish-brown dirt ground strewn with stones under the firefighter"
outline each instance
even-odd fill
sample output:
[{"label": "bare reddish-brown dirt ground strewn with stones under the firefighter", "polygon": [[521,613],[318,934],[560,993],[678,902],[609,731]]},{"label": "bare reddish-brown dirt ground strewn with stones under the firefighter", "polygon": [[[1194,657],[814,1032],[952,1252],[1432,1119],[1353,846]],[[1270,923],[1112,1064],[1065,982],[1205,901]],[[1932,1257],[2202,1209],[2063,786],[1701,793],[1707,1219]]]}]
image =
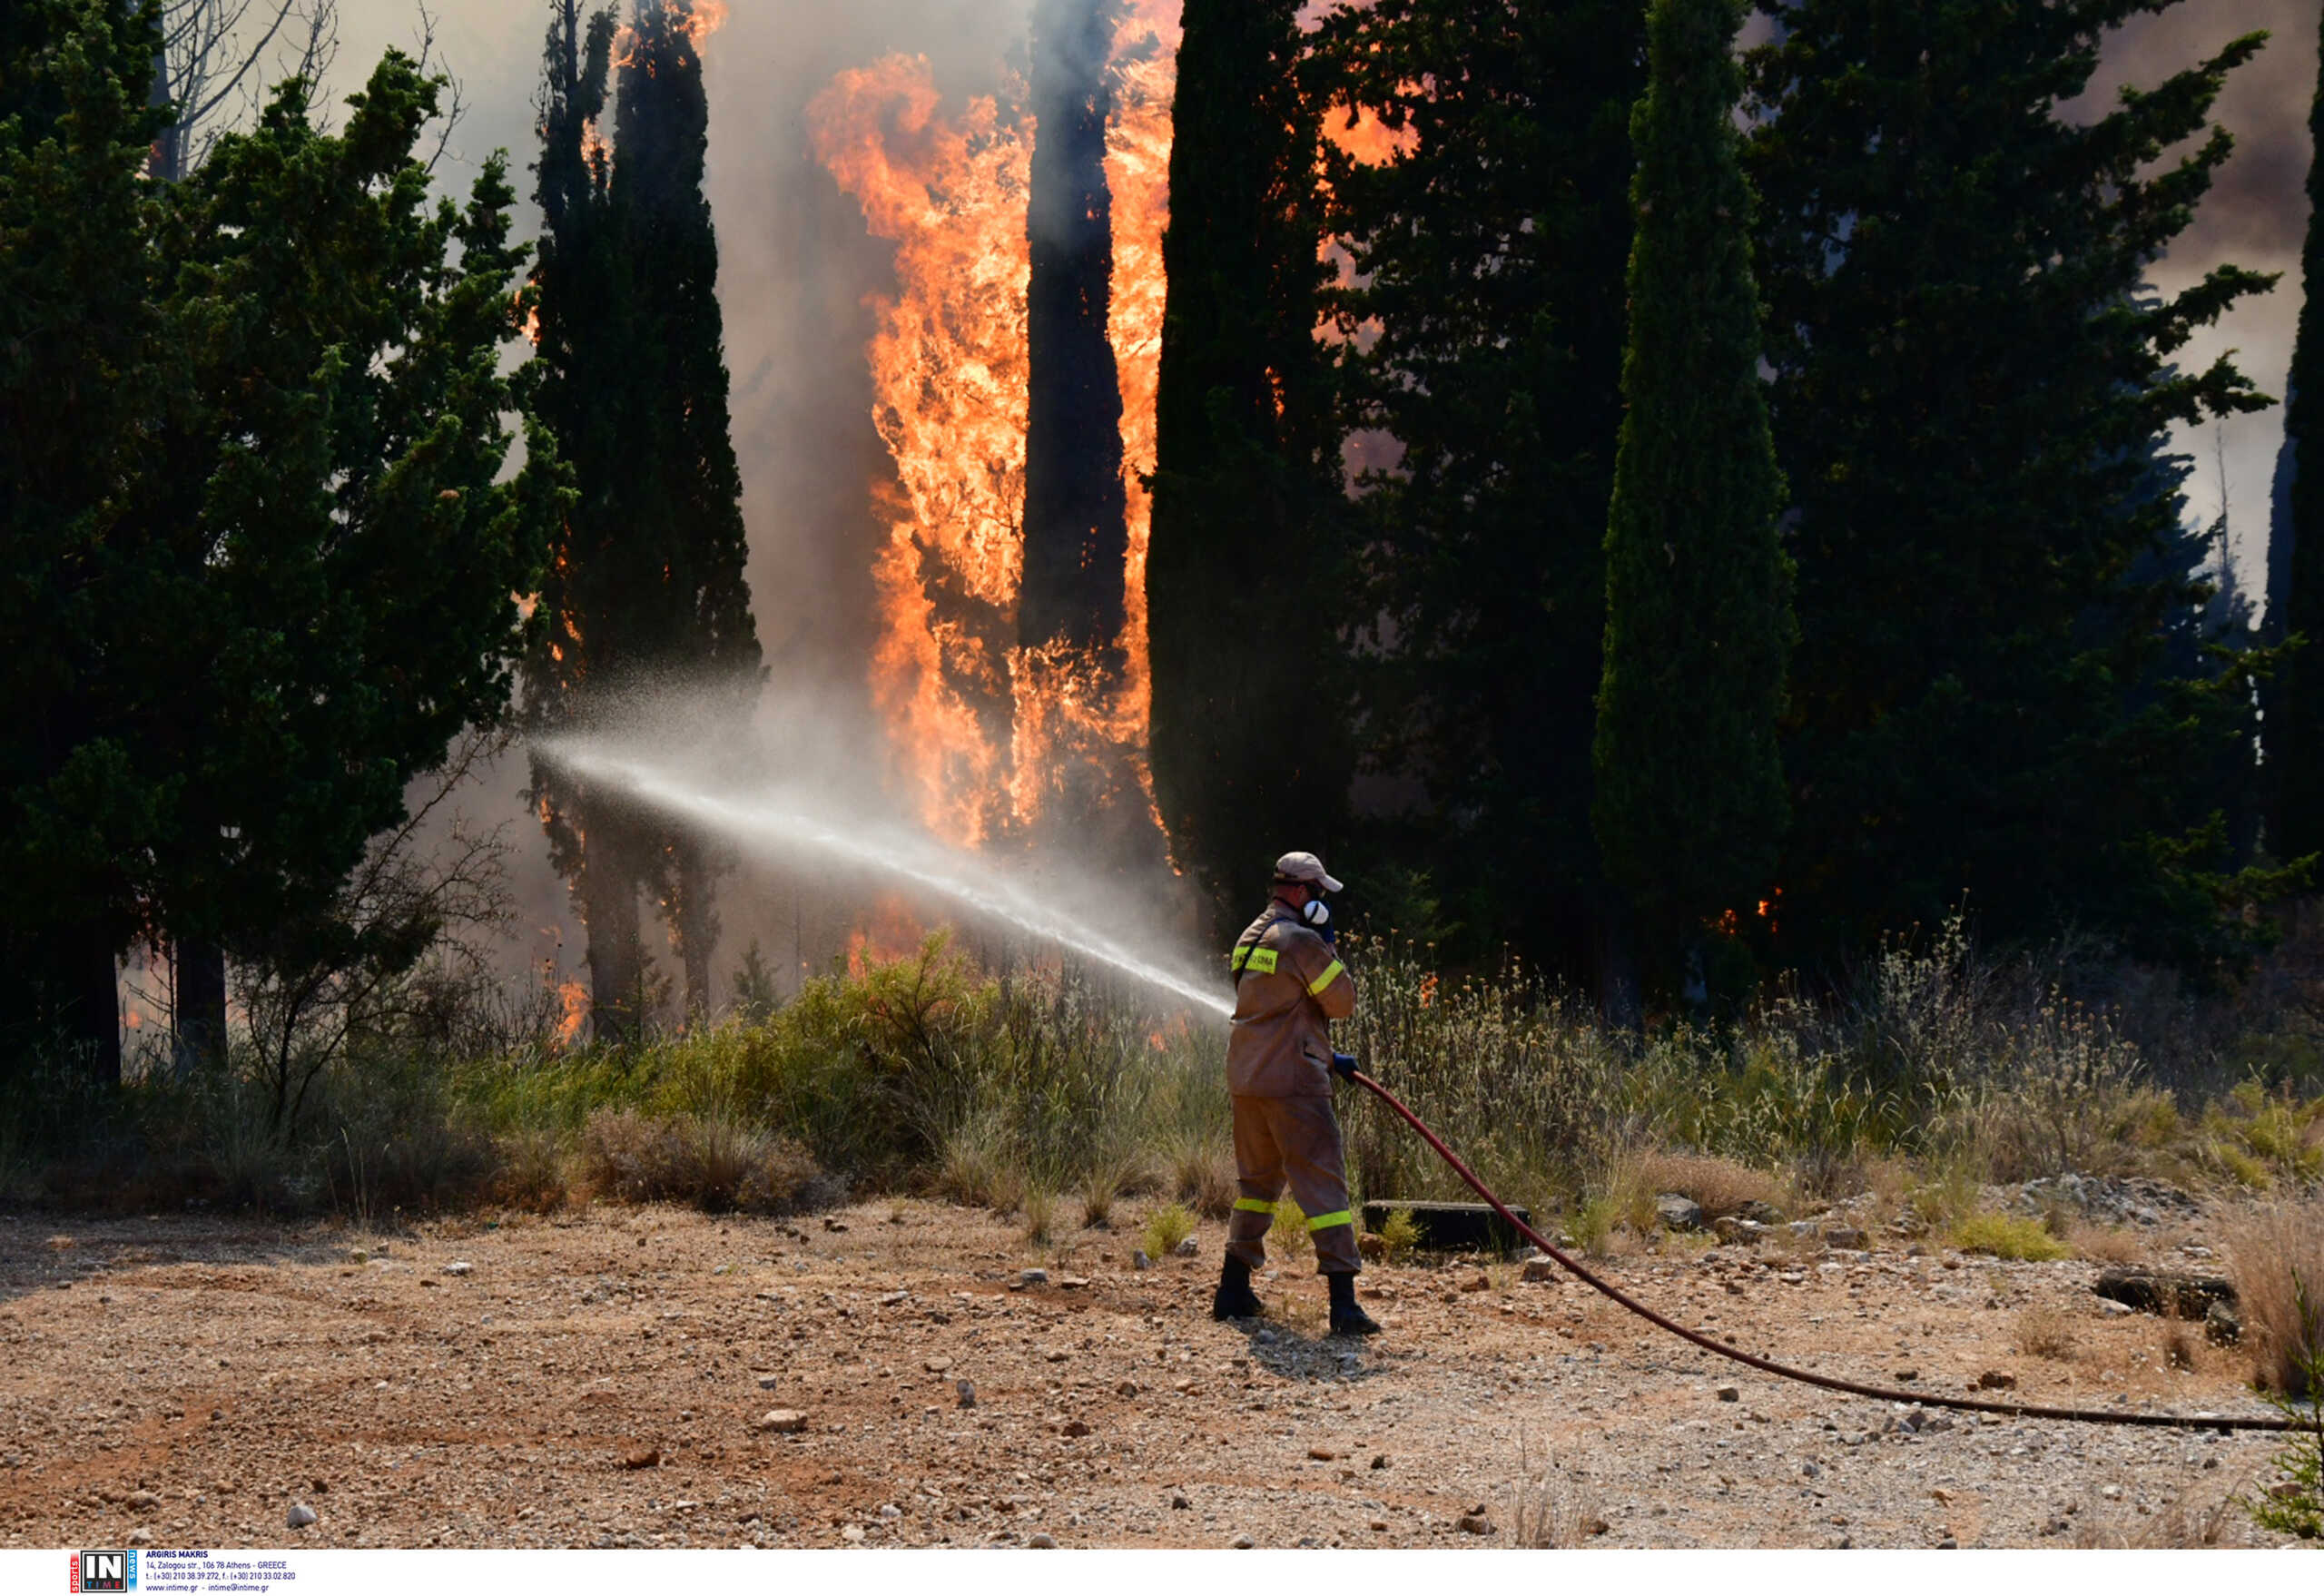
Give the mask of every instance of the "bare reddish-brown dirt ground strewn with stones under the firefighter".
[{"label": "bare reddish-brown dirt ground strewn with stones under the firefighter", "polygon": [[[1757,1375],[1576,1282],[1478,1259],[1373,1266],[1387,1333],[1364,1345],[1320,1336],[1304,1259],[1262,1285],[1267,1324],[1222,1327],[1206,1315],[1222,1229],[1139,1271],[1125,1208],[1122,1229],[1050,1248],[920,1201],[379,1236],[0,1217],[0,1533],[1968,1547],[2217,1526],[2250,1543],[2222,1503],[2271,1480],[2268,1436],[1966,1415],[1913,1433],[1910,1410]],[[2154,1236],[2154,1261],[2201,1268],[2185,1236]],[[1030,1266],[1048,1280],[1025,1285]],[[2103,1313],[2092,1264],[1713,1248],[1608,1268],[1673,1317],[1831,1373],[1959,1394],[2001,1371],[2029,1401],[2264,1410],[2245,1354]],[[769,1426],[774,1410],[799,1429]],[[290,1529],[295,1503],[316,1522]]]}]

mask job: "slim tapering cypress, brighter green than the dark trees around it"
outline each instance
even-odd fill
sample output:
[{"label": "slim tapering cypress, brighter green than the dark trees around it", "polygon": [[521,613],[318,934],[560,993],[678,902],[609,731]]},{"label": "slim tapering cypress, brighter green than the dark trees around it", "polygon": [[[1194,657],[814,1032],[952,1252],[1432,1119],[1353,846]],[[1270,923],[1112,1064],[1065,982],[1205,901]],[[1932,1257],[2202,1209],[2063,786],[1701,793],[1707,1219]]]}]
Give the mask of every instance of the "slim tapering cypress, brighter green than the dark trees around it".
[{"label": "slim tapering cypress, brighter green than the dark trees around it", "polygon": [[1606,530],[1594,820],[1648,971],[1759,894],[1787,820],[1776,718],[1792,569],[1734,128],[1741,16],[1738,0],[1655,0],[1631,118],[1629,409]]}]

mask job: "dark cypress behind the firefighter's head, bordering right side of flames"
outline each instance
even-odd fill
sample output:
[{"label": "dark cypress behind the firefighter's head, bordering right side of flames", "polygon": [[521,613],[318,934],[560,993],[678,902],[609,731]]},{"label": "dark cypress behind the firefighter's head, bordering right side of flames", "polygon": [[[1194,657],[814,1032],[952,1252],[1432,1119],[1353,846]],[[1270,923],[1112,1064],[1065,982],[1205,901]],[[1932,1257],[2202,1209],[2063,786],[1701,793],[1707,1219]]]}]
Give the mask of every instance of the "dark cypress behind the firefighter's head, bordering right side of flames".
[{"label": "dark cypress behind the firefighter's head, bordering right side of flames", "polygon": [[1264,876],[1267,834],[1332,848],[1348,785],[1339,444],[1315,342],[1320,130],[1297,14],[1297,0],[1188,0],[1171,114],[1150,757],[1171,855],[1213,927]]}]

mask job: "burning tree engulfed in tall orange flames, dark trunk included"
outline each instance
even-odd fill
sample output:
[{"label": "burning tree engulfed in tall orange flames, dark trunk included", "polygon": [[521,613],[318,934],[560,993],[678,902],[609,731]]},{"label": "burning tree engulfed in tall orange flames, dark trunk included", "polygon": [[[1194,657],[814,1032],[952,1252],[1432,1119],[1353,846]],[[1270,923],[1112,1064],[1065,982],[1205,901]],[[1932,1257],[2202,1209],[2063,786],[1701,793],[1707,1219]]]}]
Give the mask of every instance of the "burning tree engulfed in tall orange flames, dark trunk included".
[{"label": "burning tree engulfed in tall orange flames, dark trunk included", "polygon": [[904,56],[841,72],[809,109],[818,158],[897,244],[867,351],[895,462],[874,488],[890,539],[871,688],[899,785],[957,843],[1160,853],[1139,472],[1169,9],[1043,0],[1032,118],[997,98],[946,116]]}]

